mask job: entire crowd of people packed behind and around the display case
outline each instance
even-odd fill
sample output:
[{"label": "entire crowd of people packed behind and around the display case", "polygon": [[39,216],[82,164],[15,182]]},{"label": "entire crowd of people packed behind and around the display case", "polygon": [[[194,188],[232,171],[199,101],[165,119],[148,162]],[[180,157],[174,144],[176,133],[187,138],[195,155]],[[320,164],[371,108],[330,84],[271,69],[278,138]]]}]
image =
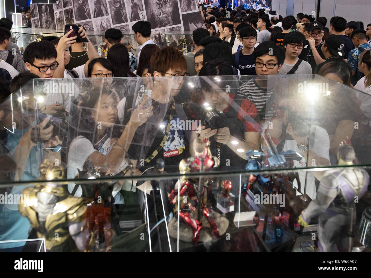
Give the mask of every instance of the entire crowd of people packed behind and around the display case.
[{"label": "entire crowd of people packed behind and around the display case", "polygon": [[[63,37],[30,43],[22,57],[10,42],[12,21],[1,19],[1,181],[36,180],[44,159],[58,159],[70,179],[87,163],[112,175],[132,163],[138,174],[156,166],[159,158],[165,171],[178,173],[181,160],[194,155],[194,141],[204,138],[210,139],[220,170],[242,170],[246,151],[264,149],[262,133],[270,134],[279,151],[295,150],[304,157],[293,167],[305,167],[307,162],[313,166],[313,161],[316,166],[336,165],[339,143],[347,137],[359,160],[368,162],[371,24],[364,30],[358,21],[335,16],[327,28],[324,17],[299,13],[296,18],[282,18],[264,10],[210,6],[200,6],[200,13],[204,28],[193,31],[194,51],[186,54],[172,46],[161,49],[150,38],[151,24],[137,21],[132,26],[141,45],[137,57],[114,28],[105,32],[107,57],[99,57],[83,26],[79,34],[88,42],[69,37],[69,31]],[[311,82],[311,74],[319,74],[321,82],[334,81],[331,94],[312,105],[302,96],[290,95],[291,83],[279,75],[294,74],[296,80],[289,81],[295,82],[296,93],[298,82]],[[37,78],[63,78],[52,81],[68,80],[76,86],[69,94],[45,94],[39,103],[34,101],[35,84],[30,83]],[[45,80],[37,84],[49,81]],[[321,124],[307,119],[308,133],[305,128],[298,131],[295,117],[305,117],[313,105]],[[204,106],[221,117],[219,124],[207,121]],[[57,118],[69,126],[67,139],[55,133],[58,121],[49,123]],[[179,122],[175,119],[201,124],[186,130],[174,127]],[[322,175],[299,174],[311,198]],[[10,191],[20,194],[22,188]],[[72,182],[68,190],[83,195]],[[118,203],[125,202],[121,190],[114,190]],[[0,241],[27,238],[29,223],[17,208],[3,206],[4,212],[9,217],[0,227]],[[22,244],[6,248],[16,250]]]}]

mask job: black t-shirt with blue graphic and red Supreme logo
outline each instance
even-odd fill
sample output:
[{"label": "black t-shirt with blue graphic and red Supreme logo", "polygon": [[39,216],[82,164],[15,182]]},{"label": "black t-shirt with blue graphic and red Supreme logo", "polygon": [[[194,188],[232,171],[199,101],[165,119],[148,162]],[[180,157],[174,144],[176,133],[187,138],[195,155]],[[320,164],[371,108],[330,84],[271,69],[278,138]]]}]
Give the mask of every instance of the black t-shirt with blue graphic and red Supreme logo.
[{"label": "black t-shirt with blue graphic and red Supreme logo", "polygon": [[[165,171],[179,173],[179,163],[185,158],[184,124],[178,117],[173,103],[152,103],[154,114],[137,128],[128,154],[133,160],[138,160],[138,169],[143,171],[156,165],[156,160],[162,158],[165,161]],[[170,129],[167,132],[169,119]],[[162,141],[165,142],[160,148]],[[153,158],[152,158],[153,157]],[[151,160],[148,162],[148,160]]]}]

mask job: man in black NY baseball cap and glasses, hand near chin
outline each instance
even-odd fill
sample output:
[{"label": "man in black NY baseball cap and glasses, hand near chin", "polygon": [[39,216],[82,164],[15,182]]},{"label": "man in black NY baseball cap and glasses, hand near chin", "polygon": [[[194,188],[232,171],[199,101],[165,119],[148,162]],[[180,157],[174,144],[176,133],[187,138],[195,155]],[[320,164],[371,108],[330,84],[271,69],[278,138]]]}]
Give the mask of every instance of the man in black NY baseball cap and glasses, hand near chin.
[{"label": "man in black NY baseball cap and glasses, hand near chin", "polygon": [[303,51],[298,57],[308,62],[312,67],[312,72],[314,72],[317,65],[325,61],[325,56],[321,51],[324,28],[318,21],[313,21],[308,25],[307,30],[309,33],[308,45],[303,47]]}]

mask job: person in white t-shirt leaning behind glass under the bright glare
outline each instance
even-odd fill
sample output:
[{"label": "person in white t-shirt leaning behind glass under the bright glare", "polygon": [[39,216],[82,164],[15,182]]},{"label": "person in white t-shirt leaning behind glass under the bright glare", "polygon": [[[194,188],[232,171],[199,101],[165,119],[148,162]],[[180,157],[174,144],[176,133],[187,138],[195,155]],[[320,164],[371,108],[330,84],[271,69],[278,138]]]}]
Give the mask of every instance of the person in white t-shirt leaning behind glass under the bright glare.
[{"label": "person in white t-shirt leaning behind glass under the bright glare", "polygon": [[[270,134],[278,152],[294,150],[303,156],[302,160],[293,161],[293,168],[330,165],[329,136],[324,128],[311,124],[311,117],[306,117],[308,105],[300,99],[285,99],[277,108],[270,121],[264,123],[263,130]],[[299,173],[301,184],[306,184],[305,193],[312,199],[316,197],[315,178],[321,181],[323,174],[319,171]],[[293,185],[297,186],[296,180]],[[303,190],[301,188],[302,193]]]}]

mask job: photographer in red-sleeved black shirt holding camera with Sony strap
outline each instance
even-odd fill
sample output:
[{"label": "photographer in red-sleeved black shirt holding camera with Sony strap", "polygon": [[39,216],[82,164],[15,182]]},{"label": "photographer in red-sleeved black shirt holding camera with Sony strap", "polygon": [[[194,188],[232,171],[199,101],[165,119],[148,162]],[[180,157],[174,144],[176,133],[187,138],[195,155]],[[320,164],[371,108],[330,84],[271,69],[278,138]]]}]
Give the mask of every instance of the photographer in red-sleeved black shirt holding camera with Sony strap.
[{"label": "photographer in red-sleeved black shirt holding camera with Sony strap", "polygon": [[[226,62],[216,60],[206,63],[199,76],[231,75],[232,68]],[[246,98],[221,90],[220,84],[207,77],[200,78],[200,101],[190,105],[191,118],[201,120],[192,139],[210,138],[210,150],[219,158],[221,169],[243,168],[246,151],[259,150],[260,125],[255,105]],[[191,148],[191,155],[192,153]]]}]

